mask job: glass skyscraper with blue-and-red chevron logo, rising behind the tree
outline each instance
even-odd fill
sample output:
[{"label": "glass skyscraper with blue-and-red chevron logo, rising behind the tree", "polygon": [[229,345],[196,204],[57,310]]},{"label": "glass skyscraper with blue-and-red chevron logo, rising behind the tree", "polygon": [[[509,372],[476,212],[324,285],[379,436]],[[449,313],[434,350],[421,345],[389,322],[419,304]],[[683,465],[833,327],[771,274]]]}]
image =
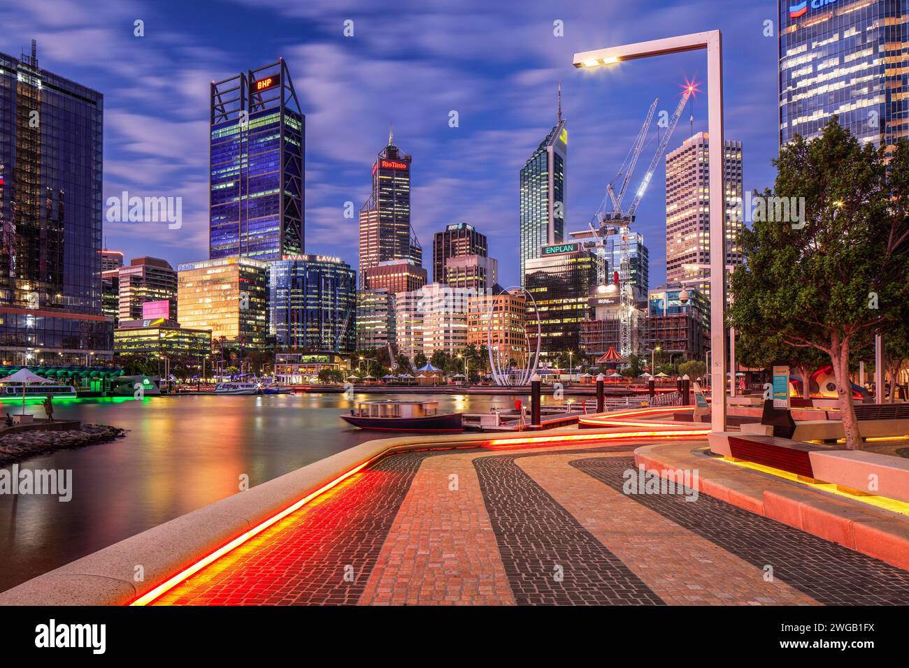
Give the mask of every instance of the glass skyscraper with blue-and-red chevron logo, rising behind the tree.
[{"label": "glass skyscraper with blue-and-red chevron logo, rising behind the tree", "polygon": [[779,0],[780,144],[837,115],[865,142],[909,135],[905,0]]}]

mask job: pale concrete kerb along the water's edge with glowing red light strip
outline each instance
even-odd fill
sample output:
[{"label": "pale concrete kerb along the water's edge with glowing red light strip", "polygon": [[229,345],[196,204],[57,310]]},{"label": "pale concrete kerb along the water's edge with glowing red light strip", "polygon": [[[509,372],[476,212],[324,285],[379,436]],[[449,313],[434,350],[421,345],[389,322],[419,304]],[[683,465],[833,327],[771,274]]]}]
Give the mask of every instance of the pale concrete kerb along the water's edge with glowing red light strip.
[{"label": "pale concrete kerb along the water's edge with glowing red light strip", "polygon": [[[604,429],[611,433],[621,429]],[[124,605],[165,583],[276,513],[361,464],[427,448],[480,447],[491,440],[578,434],[575,428],[544,433],[440,434],[368,441],[255,485],[192,513],[126,538],[75,562],[0,593],[0,605]],[[586,432],[587,435],[594,435]],[[136,580],[141,568],[142,579]]]}]

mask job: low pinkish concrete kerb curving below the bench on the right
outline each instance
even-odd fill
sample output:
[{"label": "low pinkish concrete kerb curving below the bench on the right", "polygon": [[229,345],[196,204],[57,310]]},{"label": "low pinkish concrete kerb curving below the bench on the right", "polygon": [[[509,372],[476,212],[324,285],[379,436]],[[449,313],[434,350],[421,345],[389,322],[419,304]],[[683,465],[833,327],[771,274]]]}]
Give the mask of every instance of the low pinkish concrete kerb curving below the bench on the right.
[{"label": "low pinkish concrete kerb curving below the bench on the right", "polygon": [[731,464],[679,444],[644,445],[634,451],[634,463],[657,472],[696,468],[698,492],[909,571],[909,518],[899,513],[757,472],[730,471]]}]

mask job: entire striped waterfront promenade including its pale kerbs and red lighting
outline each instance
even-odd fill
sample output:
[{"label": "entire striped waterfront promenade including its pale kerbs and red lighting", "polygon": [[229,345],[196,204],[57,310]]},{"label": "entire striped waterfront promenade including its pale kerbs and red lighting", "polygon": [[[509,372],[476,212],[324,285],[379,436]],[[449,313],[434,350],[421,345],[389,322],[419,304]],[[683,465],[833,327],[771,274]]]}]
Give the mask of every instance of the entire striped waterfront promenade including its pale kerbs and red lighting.
[{"label": "entire striped waterfront promenade including its pale kerbs and red lighting", "polygon": [[[909,504],[734,464],[665,411],[606,418],[360,444],[0,603],[909,603]],[[690,477],[667,488],[655,472]]]}]

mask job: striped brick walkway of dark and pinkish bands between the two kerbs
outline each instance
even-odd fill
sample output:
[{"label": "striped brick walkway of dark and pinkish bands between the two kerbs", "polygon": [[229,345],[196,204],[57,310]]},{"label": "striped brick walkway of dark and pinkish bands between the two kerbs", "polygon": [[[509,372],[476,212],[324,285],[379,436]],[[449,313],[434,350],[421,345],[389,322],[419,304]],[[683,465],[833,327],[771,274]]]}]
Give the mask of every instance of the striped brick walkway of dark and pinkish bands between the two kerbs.
[{"label": "striped brick walkway of dark and pinkish bands between the two kerbs", "polygon": [[909,603],[909,573],[840,545],[623,494],[639,445],[395,455],[155,604]]}]

